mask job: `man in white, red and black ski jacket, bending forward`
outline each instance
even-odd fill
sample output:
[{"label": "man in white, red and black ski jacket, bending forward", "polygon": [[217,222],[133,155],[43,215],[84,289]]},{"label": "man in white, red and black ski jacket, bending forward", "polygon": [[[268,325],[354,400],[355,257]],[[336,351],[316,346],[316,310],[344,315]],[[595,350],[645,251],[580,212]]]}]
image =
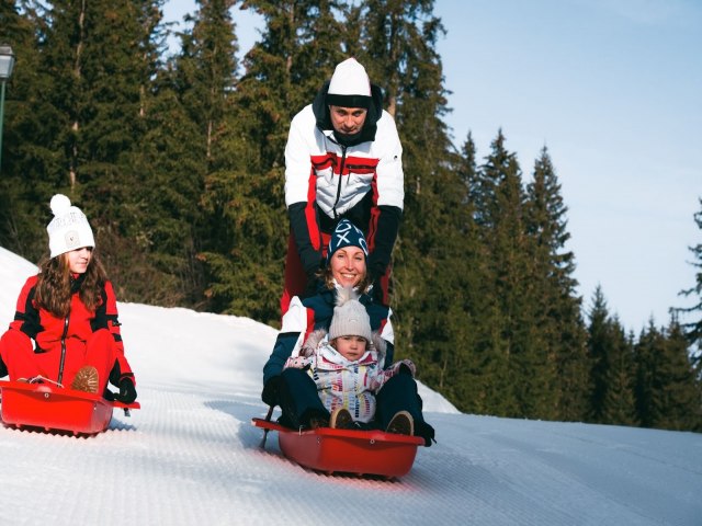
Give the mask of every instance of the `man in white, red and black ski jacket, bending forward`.
[{"label": "man in white, red and black ski jacket, bending forward", "polygon": [[405,196],[401,156],[381,89],[354,58],[342,61],[290,127],[285,205],[291,236],[283,313],[294,296],[316,293],[330,233],[343,218],[364,232],[374,296],[388,304],[390,255]]}]

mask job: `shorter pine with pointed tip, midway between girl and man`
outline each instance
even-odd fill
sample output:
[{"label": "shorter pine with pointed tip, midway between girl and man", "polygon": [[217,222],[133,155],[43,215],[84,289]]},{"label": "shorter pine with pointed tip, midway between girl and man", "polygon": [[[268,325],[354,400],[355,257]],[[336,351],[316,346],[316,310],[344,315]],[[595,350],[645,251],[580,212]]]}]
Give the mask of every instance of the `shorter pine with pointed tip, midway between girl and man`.
[{"label": "shorter pine with pointed tip, midway between girl and man", "polygon": [[157,275],[135,290],[143,301],[162,306],[196,306],[203,301],[203,270],[197,261],[203,231],[200,206],[206,162],[204,141],[163,73],[158,76],[145,121],[144,141],[132,156],[135,173],[147,184],[135,188],[138,216],[132,230]]}]

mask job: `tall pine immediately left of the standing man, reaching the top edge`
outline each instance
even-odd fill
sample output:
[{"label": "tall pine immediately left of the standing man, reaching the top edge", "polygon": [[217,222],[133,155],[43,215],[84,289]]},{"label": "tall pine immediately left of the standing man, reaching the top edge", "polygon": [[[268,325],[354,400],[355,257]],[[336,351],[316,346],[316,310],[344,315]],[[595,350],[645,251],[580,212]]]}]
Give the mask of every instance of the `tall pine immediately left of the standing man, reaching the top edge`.
[{"label": "tall pine immediately left of the standing man, reaching the top edge", "polygon": [[[339,58],[336,2],[244,2],[263,16],[261,39],[244,60],[224,136],[226,162],[208,178],[204,206],[212,239],[202,253],[217,311],[272,324],[280,318],[287,233],[283,183],[292,116],[312,102]],[[329,39],[315,39],[318,32]],[[325,33],[327,34],[327,33]],[[225,160],[223,158],[223,160]]]}]

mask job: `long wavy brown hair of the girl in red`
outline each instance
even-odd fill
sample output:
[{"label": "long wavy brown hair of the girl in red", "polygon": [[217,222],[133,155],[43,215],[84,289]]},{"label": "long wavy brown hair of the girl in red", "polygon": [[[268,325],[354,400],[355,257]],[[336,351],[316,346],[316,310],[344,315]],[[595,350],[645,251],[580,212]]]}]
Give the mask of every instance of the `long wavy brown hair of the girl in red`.
[{"label": "long wavy brown hair of the girl in red", "polygon": [[[102,286],[107,281],[102,263],[93,251],[78,295],[88,310],[94,312],[102,302]],[[36,302],[57,318],[70,312],[71,275],[68,268],[68,254],[44,260],[39,265],[36,283]]]}]

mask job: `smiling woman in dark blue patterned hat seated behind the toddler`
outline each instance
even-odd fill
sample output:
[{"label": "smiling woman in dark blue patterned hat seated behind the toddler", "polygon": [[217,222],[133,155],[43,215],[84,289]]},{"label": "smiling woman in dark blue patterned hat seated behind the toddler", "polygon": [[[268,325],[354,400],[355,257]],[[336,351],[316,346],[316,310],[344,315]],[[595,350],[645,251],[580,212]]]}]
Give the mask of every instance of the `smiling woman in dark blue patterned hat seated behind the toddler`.
[{"label": "smiling woman in dark blue patterned hat seated behind the toddler", "polygon": [[[328,425],[329,412],[317,395],[317,386],[305,370],[283,369],[290,356],[296,356],[307,336],[315,330],[329,330],[337,289],[354,287],[362,293],[359,300],[369,313],[371,330],[386,343],[385,366],[393,363],[394,334],[389,321],[392,310],[374,301],[366,294],[370,287],[366,271],[367,245],[361,230],[343,219],[337,225],[327,255],[327,265],[320,276],[320,285],[315,296],[301,299],[294,297],[283,317],[283,327],[275,340],[273,352],[263,366],[262,400],[269,405],[280,405],[281,423],[294,428],[309,428]],[[417,392],[417,384],[407,370],[390,378],[378,391],[377,410],[373,425],[387,430],[393,418],[399,412],[411,415],[410,433],[424,438],[431,445],[434,430],[424,422],[422,402]]]}]

